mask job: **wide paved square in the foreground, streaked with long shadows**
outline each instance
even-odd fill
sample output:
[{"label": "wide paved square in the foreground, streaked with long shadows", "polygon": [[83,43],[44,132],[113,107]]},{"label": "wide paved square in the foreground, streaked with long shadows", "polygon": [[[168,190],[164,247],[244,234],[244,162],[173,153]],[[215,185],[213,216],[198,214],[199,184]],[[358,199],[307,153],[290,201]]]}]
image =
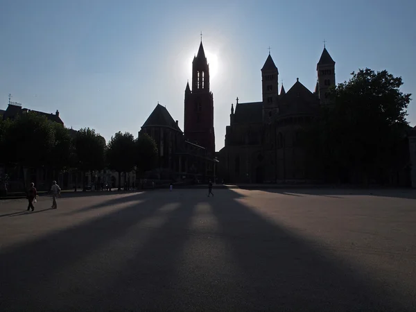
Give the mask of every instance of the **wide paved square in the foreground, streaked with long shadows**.
[{"label": "wide paved square in the foreground, streaked with long shadows", "polygon": [[0,201],[0,310],[416,310],[414,191],[214,195]]}]

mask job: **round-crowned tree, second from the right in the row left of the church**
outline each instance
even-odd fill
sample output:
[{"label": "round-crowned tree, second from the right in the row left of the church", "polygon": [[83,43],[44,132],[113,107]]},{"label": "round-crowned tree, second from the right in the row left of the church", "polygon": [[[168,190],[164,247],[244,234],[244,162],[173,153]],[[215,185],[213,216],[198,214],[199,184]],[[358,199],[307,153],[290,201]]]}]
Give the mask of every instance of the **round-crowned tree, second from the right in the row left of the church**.
[{"label": "round-crowned tree, second from the right in the row left of the church", "polygon": [[121,173],[130,172],[135,167],[135,137],[129,132],[117,132],[107,146],[107,162],[110,169],[119,173],[119,191]]}]

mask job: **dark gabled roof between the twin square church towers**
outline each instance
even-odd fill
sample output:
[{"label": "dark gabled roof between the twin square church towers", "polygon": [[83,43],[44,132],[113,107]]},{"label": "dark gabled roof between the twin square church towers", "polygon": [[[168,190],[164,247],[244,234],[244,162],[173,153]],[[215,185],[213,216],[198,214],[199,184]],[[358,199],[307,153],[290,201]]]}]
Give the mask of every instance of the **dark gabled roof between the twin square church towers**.
[{"label": "dark gabled roof between the twin square church towers", "polygon": [[311,114],[318,104],[317,96],[297,80],[284,96],[279,97],[279,114]]}]

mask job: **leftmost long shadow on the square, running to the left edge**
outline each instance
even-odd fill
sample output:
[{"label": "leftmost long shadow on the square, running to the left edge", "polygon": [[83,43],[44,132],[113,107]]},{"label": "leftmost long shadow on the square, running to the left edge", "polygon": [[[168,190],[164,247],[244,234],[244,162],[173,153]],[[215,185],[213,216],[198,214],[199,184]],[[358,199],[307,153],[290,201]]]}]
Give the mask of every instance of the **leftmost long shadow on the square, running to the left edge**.
[{"label": "leftmost long shadow on the square, running to the left edge", "polygon": [[[0,310],[53,309],[48,306],[48,302],[53,301],[49,296],[51,290],[42,288],[42,284],[48,284],[56,272],[80,261],[108,241],[123,236],[130,227],[153,215],[158,208],[133,203],[101,218],[1,250]],[[56,283],[59,285],[59,281]],[[65,285],[60,286],[64,288]]]}]

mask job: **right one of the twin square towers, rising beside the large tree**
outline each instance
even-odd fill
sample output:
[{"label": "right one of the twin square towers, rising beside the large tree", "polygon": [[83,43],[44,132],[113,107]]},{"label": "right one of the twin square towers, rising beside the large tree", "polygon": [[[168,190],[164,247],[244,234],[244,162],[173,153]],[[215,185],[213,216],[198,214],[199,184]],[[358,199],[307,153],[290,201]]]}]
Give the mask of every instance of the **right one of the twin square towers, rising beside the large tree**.
[{"label": "right one of the twin square towers, rising beside the large tree", "polygon": [[316,65],[316,70],[318,71],[318,84],[315,92],[319,90],[318,96],[320,103],[327,104],[328,89],[332,85],[335,85],[335,62],[332,60],[325,46],[319,62]]}]

